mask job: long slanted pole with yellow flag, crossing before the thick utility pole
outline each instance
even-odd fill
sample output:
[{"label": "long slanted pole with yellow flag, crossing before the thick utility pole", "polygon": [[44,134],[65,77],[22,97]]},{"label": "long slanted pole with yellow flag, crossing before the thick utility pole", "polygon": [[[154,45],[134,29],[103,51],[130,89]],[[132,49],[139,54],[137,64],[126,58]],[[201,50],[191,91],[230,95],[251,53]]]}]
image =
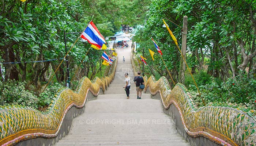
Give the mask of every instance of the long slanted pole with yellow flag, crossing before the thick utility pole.
[{"label": "long slanted pole with yellow flag, crossing before the thick utility pole", "polygon": [[[163,23],[165,23],[165,20],[163,20]],[[178,46],[177,39],[175,38],[175,36],[173,35],[172,31],[170,30],[170,28],[167,26],[166,23],[165,23],[165,26],[166,26],[167,30],[169,31],[169,34],[170,34],[171,37],[173,38],[173,41],[175,42],[175,44],[176,44],[178,50],[180,51],[181,57],[183,58],[183,60],[184,60],[184,62],[185,62],[185,64],[186,64],[186,66],[187,66],[187,68],[188,68],[188,71],[189,71],[189,73],[191,74],[191,77],[192,77],[192,79],[193,79],[193,81],[194,81],[194,83],[195,83],[195,85],[196,85],[196,88],[197,88],[197,91],[198,91],[198,93],[199,93],[199,96],[201,97],[201,99],[202,99],[202,101],[203,101],[203,104],[204,104],[204,106],[205,106],[206,104],[205,104],[205,102],[204,102],[204,100],[203,100],[203,98],[202,98],[202,96],[201,96],[201,93],[200,93],[200,91],[199,91],[199,88],[197,87],[196,81],[195,81],[195,79],[194,79],[194,77],[193,77],[193,75],[192,75],[192,73],[191,73],[191,70],[190,70],[189,67],[188,67],[187,61],[186,61],[186,59],[184,58],[184,56],[183,56],[183,54],[182,54],[182,52],[181,52],[181,50],[180,50],[180,47]]]}]

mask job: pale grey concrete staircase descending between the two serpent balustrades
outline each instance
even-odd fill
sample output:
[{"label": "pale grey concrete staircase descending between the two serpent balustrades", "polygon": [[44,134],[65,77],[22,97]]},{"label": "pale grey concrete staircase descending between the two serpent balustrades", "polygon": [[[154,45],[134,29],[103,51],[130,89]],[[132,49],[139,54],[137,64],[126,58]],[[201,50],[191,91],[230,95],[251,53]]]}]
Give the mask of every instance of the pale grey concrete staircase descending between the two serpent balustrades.
[{"label": "pale grey concrete staircase descending between the two serpent balustrades", "polygon": [[[160,100],[146,93],[136,99],[130,47],[117,53],[116,75],[105,94],[86,103],[85,112],[73,120],[69,134],[55,145],[190,146],[177,133],[173,120],[162,112]],[[126,72],[131,77],[130,99],[123,89]]]}]

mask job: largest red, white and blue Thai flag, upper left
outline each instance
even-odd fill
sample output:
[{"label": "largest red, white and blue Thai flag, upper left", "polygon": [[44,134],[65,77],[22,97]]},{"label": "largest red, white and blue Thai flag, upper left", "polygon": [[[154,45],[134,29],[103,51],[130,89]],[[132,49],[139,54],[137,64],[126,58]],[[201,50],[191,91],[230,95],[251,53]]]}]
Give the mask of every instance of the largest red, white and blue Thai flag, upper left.
[{"label": "largest red, white and blue Thai flag, upper left", "polygon": [[104,37],[99,33],[99,30],[91,21],[85,28],[84,32],[80,35],[81,38],[86,39],[90,44],[101,48],[104,43],[106,43]]}]

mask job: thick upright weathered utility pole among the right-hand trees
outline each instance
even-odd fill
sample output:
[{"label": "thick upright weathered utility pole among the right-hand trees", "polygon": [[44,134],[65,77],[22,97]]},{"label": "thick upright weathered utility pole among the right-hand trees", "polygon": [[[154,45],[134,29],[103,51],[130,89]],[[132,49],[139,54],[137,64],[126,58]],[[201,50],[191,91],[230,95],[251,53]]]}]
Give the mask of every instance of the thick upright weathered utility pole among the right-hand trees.
[{"label": "thick upright weathered utility pole among the right-hand trees", "polygon": [[[187,51],[187,32],[188,32],[188,17],[183,17],[183,28],[182,28],[182,45],[181,45],[181,55],[184,56],[186,60],[186,51]],[[180,58],[180,82],[184,84],[185,82],[185,70],[186,70],[186,64],[185,61],[182,59],[182,56]]]}]

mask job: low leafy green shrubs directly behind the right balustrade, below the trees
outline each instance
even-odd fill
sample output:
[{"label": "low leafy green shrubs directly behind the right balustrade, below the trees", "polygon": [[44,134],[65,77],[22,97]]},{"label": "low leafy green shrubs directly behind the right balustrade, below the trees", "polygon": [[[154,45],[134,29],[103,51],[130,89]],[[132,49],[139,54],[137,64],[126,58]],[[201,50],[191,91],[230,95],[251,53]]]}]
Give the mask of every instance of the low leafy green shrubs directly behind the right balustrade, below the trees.
[{"label": "low leafy green shrubs directly behind the right balustrade, below the trees", "polygon": [[[256,78],[253,75],[240,73],[220,85],[215,78],[210,77],[210,80],[210,83],[198,86],[206,104],[232,103],[246,105],[249,109],[256,110]],[[203,106],[201,98],[197,96],[199,93],[195,85],[189,85],[189,92],[197,105]]]}]

